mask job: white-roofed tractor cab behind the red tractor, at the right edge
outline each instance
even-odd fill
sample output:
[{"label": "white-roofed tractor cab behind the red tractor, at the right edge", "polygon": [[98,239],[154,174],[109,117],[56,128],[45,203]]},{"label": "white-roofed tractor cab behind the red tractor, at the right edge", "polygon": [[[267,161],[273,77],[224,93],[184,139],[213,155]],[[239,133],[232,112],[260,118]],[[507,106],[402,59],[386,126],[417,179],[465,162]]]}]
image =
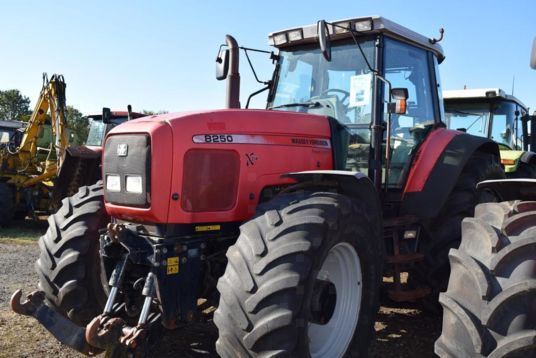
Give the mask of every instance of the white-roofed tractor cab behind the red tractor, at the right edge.
[{"label": "white-roofed tractor cab behind the red tractor, at the right edge", "polygon": [[536,154],[529,128],[535,117],[500,88],[443,91],[447,127],[487,137],[499,145],[509,178],[536,178]]}]

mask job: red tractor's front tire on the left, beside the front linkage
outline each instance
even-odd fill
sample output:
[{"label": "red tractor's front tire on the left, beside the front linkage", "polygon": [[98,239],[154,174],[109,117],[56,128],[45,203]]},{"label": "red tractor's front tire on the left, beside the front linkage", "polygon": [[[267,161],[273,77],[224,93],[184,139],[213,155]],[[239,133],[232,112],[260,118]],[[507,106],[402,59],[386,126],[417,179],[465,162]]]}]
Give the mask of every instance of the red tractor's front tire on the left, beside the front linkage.
[{"label": "red tractor's front tire on the left, beside the front linkage", "polygon": [[98,230],[108,220],[102,182],[83,186],[63,199],[39,239],[39,288],[52,307],[80,326],[102,313],[106,302]]}]

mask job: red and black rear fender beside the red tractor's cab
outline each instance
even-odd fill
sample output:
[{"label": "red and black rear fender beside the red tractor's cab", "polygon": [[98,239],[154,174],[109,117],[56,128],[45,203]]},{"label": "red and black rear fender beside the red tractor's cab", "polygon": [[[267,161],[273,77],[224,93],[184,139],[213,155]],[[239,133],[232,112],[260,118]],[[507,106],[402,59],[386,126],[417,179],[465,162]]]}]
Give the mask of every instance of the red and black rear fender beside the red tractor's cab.
[{"label": "red and black rear fender beside the red tractor's cab", "polygon": [[487,138],[443,128],[431,132],[419,147],[410,168],[401,214],[421,219],[437,216],[465,164],[477,151],[496,156],[499,163],[499,147]]}]

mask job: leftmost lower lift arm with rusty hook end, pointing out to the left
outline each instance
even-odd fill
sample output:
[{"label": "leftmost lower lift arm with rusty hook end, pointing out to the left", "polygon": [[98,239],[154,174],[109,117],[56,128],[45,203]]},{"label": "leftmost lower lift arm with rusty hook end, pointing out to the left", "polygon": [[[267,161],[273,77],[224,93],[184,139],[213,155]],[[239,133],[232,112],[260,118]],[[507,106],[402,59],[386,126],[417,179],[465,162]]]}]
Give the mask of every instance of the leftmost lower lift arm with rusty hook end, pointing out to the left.
[{"label": "leftmost lower lift arm with rusty hook end, pointing out to the left", "polygon": [[94,356],[102,352],[86,342],[84,328],[77,326],[44,303],[45,293],[43,291],[30,293],[24,301],[21,301],[21,298],[22,290],[15,291],[11,296],[10,304],[13,312],[34,317],[60,342],[85,355]]}]

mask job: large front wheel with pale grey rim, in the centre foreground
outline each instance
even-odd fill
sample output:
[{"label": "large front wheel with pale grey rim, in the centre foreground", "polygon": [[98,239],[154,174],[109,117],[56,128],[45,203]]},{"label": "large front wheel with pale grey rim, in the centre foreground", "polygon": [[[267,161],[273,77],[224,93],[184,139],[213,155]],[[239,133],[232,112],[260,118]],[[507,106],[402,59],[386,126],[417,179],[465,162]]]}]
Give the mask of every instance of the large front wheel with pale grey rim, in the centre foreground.
[{"label": "large front wheel with pale grey rim, in the centre foreground", "polygon": [[374,333],[381,228],[365,204],[334,193],[261,206],[227,251],[214,314],[222,357],[361,357]]}]

